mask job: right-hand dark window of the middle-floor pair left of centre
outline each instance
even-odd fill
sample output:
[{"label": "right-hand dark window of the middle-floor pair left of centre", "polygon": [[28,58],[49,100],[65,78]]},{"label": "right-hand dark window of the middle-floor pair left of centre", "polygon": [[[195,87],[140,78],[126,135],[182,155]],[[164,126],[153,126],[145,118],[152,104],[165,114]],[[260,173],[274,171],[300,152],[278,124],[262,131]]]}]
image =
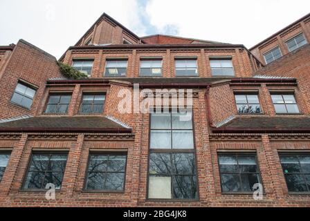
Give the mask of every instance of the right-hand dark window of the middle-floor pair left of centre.
[{"label": "right-hand dark window of the middle-floor pair left of centre", "polygon": [[82,97],[80,113],[102,113],[105,95],[85,93]]}]

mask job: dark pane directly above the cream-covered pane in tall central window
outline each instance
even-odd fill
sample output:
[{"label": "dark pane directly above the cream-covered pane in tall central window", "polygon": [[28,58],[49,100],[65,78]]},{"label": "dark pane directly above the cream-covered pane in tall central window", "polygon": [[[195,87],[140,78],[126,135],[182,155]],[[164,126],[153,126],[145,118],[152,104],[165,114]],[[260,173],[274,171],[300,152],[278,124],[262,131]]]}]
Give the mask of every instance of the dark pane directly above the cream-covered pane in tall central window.
[{"label": "dark pane directly above the cream-covered pane in tall central window", "polygon": [[161,175],[171,173],[170,153],[151,153],[149,155],[149,174]]}]

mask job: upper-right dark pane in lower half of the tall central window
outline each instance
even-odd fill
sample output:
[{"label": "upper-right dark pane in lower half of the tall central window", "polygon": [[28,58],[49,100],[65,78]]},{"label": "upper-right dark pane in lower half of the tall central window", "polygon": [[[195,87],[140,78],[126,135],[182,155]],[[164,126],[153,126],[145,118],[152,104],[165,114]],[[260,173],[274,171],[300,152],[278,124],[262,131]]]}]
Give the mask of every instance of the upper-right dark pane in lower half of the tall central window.
[{"label": "upper-right dark pane in lower half of the tall central window", "polygon": [[172,155],[173,169],[176,174],[196,174],[193,153],[175,153]]}]

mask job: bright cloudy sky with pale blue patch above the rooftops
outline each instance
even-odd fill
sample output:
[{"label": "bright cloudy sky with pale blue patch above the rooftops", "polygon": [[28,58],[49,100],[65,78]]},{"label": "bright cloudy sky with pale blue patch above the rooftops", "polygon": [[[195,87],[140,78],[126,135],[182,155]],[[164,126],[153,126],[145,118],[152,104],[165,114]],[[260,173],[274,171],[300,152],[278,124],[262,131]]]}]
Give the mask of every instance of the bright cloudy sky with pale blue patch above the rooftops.
[{"label": "bright cloudy sky with pale blue patch above the rooftops", "polygon": [[138,36],[246,47],[307,15],[309,0],[0,0],[0,45],[25,39],[59,58],[103,12]]}]

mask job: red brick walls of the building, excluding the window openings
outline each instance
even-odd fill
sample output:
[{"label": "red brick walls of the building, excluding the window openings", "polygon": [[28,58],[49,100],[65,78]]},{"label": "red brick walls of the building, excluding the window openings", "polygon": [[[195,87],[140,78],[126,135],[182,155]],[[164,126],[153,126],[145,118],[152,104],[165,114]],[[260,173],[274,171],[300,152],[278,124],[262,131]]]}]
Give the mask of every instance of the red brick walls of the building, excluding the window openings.
[{"label": "red brick walls of the building, excluding the window openings", "polygon": [[[275,40],[280,41],[280,37],[283,37],[285,41],[302,30],[309,42],[308,17],[298,21],[297,28],[283,30],[285,35],[281,32]],[[91,44],[86,45],[89,39]],[[122,44],[123,39],[131,44]],[[10,152],[10,159],[0,182],[0,206],[310,206],[309,192],[289,192],[279,157],[281,153],[310,154],[310,126],[305,125],[307,121],[304,121],[309,119],[310,114],[309,44],[264,66],[262,54],[271,44],[275,44],[273,39],[267,40],[273,43],[259,44],[251,52],[241,45],[198,41],[200,40],[159,35],[139,38],[104,14],[61,59],[70,65],[74,59],[93,59],[91,77],[81,80],[64,79],[55,57],[24,40],[11,48],[0,48],[0,154]],[[149,57],[161,57],[162,77],[140,77],[140,60]],[[175,59],[179,57],[197,59],[197,77],[176,76]],[[210,61],[219,57],[231,59],[235,73],[233,77],[212,77]],[[127,59],[126,77],[104,77],[109,58]],[[11,102],[19,81],[36,86],[30,109]],[[150,115],[132,113],[136,108],[134,83],[138,81],[140,91],[161,88],[193,90],[197,199],[147,198]],[[118,104],[123,98],[118,93],[122,90],[131,92],[131,97],[126,97],[131,103],[131,113],[118,111]],[[299,114],[276,113],[271,95],[283,91],[293,93]],[[102,113],[80,114],[82,95],[85,92],[102,92],[106,95]],[[262,114],[239,115],[234,94],[240,92],[257,94]],[[48,97],[53,93],[71,94],[66,113],[45,113]],[[145,99],[143,96],[138,97],[140,102]],[[76,132],[77,128],[68,126],[64,127],[68,131],[49,125],[42,125],[40,128],[18,126],[19,117],[25,115],[37,119],[72,117],[73,121],[78,121],[79,117],[107,117],[124,127],[125,131],[131,132],[119,130],[114,133],[111,130],[104,133],[104,128],[100,128],[100,132],[91,128],[87,131],[86,126],[78,128],[80,132]],[[253,117],[264,122],[257,127],[246,124],[238,127],[234,124],[232,128],[239,129],[239,132],[226,131],[226,125],[235,120],[246,122]],[[304,123],[298,126],[281,122],[274,126],[268,124],[268,121],[283,119]],[[13,124],[17,122],[17,127],[6,126],[10,124],[8,120]],[[255,132],[256,129],[261,131]],[[240,132],[241,130],[244,131]],[[68,153],[68,156],[62,187],[56,191],[55,200],[46,200],[46,190],[24,189],[23,184],[32,153],[51,151]],[[84,189],[89,154],[93,152],[127,155],[125,188],[122,191],[92,192]],[[223,153],[256,155],[264,187],[262,200],[253,199],[253,193],[222,193],[218,159]]]}]

